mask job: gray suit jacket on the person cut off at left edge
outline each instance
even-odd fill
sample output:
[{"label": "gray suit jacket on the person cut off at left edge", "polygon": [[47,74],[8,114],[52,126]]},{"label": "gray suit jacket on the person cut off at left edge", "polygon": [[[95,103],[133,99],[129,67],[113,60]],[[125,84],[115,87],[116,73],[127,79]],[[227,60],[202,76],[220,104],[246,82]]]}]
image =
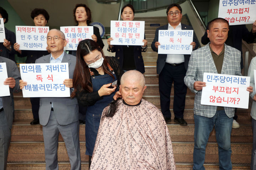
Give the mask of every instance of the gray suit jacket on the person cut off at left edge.
[{"label": "gray suit jacket on the person cut off at left edge", "polygon": [[[10,94],[17,93],[20,90],[20,72],[18,71],[18,67],[15,64],[14,61],[7,59],[5,57],[0,56],[0,62],[6,62],[6,68],[7,68],[7,76],[13,77],[15,79],[15,87],[9,88]],[[4,83],[4,82],[0,82]],[[2,102],[4,106],[4,112],[7,120],[7,125],[11,129],[12,127],[12,121],[13,121],[13,115],[14,115],[14,103],[12,102],[11,95],[2,97]]]}]

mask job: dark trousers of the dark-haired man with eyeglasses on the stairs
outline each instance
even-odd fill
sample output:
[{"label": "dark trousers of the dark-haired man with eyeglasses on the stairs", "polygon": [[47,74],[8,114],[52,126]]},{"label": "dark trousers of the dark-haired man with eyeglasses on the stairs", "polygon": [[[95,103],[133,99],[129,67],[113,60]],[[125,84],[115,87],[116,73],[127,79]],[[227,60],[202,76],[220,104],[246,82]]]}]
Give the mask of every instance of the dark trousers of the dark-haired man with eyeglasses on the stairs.
[{"label": "dark trousers of the dark-haired man with eyeglasses on the stairs", "polygon": [[159,75],[160,105],[162,114],[171,117],[170,94],[172,82],[174,83],[173,111],[176,118],[183,118],[187,86],[184,83],[186,69],[184,63],[178,66],[165,64]]}]

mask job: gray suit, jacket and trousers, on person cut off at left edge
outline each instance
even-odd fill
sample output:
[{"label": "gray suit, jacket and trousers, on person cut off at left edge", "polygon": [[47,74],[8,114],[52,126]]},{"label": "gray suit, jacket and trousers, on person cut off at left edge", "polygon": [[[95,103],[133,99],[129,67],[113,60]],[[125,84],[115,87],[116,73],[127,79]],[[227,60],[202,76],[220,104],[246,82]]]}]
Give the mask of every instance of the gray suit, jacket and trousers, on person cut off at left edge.
[{"label": "gray suit, jacket and trousers, on person cut off at left edge", "polygon": [[[0,62],[6,62],[7,75],[15,79],[15,87],[9,88],[10,94],[20,91],[20,72],[14,61],[0,56]],[[4,83],[4,82],[0,82]],[[11,95],[2,97],[4,110],[0,112],[0,170],[6,169],[8,148],[11,141],[11,128],[14,116],[14,103]]]}]

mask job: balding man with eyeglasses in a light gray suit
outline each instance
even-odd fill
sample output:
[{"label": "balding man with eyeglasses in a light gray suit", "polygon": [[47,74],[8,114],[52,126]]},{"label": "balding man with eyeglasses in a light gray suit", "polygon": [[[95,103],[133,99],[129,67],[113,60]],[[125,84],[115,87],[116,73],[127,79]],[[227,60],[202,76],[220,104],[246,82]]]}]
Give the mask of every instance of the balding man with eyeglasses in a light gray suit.
[{"label": "balding man with eyeglasses in a light gray suit", "polygon": [[[64,46],[67,44],[64,33],[58,29],[51,29],[46,38],[51,54],[40,57],[36,63],[68,62],[69,79],[65,79],[63,84],[72,88],[76,57],[64,52]],[[26,85],[27,82],[20,81],[21,89]],[[71,170],[81,169],[78,120],[76,98],[40,98],[39,121],[43,125],[46,170],[58,170],[59,132],[66,144]]]}]

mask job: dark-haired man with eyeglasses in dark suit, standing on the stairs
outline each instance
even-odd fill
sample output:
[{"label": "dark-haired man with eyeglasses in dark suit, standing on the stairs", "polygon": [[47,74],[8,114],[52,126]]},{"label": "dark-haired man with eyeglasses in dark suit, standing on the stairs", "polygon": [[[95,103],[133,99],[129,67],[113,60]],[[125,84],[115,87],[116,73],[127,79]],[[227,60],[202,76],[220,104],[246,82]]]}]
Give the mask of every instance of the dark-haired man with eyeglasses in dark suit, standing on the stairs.
[{"label": "dark-haired man with eyeglasses in dark suit, standing on the stairs", "polygon": [[[151,44],[151,48],[158,52],[158,31],[159,30],[193,30],[191,26],[181,24],[182,9],[178,4],[171,4],[167,10],[168,24],[156,29],[155,38]],[[198,42],[193,37],[190,44],[193,50],[198,48]],[[159,74],[159,92],[161,111],[164,115],[166,123],[171,121],[170,112],[170,94],[172,82],[174,82],[174,121],[182,126],[186,126],[187,122],[183,119],[185,109],[185,98],[187,94],[187,86],[184,83],[184,77],[188,68],[190,55],[183,54],[158,54],[157,73]]]}]

